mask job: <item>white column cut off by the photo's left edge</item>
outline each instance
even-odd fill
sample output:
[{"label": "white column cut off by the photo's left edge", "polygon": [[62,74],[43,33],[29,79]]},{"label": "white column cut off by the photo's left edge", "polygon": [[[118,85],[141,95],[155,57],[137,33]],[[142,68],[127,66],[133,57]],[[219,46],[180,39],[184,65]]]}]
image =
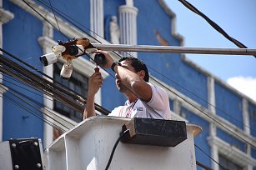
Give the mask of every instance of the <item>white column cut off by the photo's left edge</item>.
[{"label": "white column cut off by the photo's left edge", "polygon": [[[0,47],[3,48],[3,24],[14,18],[13,13],[3,9],[3,0],[0,0]],[[0,52],[3,54],[3,52]],[[0,83],[3,82],[3,74],[0,72]],[[3,140],[3,97],[0,97],[0,141]]]}]

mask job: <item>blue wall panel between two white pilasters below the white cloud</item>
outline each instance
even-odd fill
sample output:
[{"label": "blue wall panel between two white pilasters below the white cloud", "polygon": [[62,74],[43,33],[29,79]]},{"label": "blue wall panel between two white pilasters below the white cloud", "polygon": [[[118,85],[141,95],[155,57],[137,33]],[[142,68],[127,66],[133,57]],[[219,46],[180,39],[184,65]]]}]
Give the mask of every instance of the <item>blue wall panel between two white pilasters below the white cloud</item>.
[{"label": "blue wall panel between two white pilasters below the white cloud", "polygon": [[243,129],[242,97],[234,94],[218,82],[215,82],[214,87],[217,115]]}]

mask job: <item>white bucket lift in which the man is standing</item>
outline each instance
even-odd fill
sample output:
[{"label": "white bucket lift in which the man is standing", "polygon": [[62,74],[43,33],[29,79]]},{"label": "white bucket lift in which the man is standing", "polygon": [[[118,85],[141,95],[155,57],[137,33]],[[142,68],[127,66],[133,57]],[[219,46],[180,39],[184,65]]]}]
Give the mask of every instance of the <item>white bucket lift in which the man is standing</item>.
[{"label": "white bucket lift in which the man is standing", "polygon": [[[47,170],[103,170],[116,143],[123,124],[129,118],[90,117],[64,133],[44,156]],[[119,143],[109,169],[173,169],[195,170],[194,142],[201,128],[189,124],[187,139],[176,147]]]}]

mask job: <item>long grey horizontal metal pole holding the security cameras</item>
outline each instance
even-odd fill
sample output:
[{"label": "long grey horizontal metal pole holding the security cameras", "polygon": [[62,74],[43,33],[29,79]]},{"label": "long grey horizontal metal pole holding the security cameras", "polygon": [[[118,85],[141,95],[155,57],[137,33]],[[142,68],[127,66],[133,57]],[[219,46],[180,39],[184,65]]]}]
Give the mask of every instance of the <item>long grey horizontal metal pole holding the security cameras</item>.
[{"label": "long grey horizontal metal pole holding the security cameras", "polygon": [[100,43],[92,43],[92,45],[101,50],[119,52],[166,52],[223,55],[256,55],[256,49],[252,48],[176,47]]}]

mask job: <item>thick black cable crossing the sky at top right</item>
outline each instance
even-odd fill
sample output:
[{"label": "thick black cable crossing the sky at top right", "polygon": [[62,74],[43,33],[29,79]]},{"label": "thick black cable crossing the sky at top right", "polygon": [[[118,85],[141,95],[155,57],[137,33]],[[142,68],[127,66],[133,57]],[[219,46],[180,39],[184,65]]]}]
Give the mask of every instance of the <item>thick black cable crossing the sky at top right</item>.
[{"label": "thick black cable crossing the sky at top right", "polygon": [[[206,15],[201,13],[196,7],[194,7],[191,3],[187,2],[186,0],[178,0],[179,2],[183,3],[185,7],[188,7],[193,13],[198,14],[200,17],[205,19],[215,30],[220,32],[224,37],[226,37],[230,42],[233,42],[236,46],[240,48],[248,48],[245,45],[243,45],[242,42],[239,42],[233,37],[230,37],[227,32],[223,30],[223,28],[220,28],[217,23],[214,23],[210,18],[208,18]],[[256,58],[256,56],[254,56]]]}]

